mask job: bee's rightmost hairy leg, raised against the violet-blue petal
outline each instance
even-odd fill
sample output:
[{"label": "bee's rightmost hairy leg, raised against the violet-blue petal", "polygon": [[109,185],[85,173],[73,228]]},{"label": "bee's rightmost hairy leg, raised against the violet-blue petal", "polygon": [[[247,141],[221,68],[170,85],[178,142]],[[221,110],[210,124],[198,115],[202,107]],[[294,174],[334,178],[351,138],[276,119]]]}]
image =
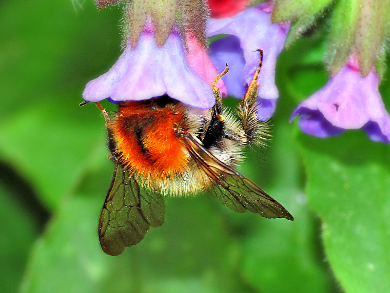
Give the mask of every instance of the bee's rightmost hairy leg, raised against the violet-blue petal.
[{"label": "bee's rightmost hairy leg, raised against the violet-blue petal", "polygon": [[260,146],[267,146],[266,141],[271,137],[268,131],[269,125],[267,122],[263,123],[260,121],[256,115],[256,110],[259,107],[259,104],[256,101],[259,88],[257,79],[263,63],[263,50],[259,49],[257,51],[260,52],[260,62],[254,72],[254,77],[247,88],[244,98],[237,106],[237,111],[247,137],[246,144],[254,143]]}]

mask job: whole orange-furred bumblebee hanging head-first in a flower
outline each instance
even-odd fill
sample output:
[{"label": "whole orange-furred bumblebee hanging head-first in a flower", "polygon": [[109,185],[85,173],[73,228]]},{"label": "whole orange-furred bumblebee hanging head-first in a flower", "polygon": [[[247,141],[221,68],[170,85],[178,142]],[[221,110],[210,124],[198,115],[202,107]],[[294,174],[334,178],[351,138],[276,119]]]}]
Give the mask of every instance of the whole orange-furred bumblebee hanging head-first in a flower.
[{"label": "whole orange-furred bumblebee hanging head-first in a flower", "polygon": [[[292,215],[254,182],[238,173],[248,145],[266,145],[269,126],[257,119],[256,103],[263,52],[237,116],[221,100],[216,76],[215,105],[199,109],[167,95],[118,105],[113,117],[99,104],[107,128],[114,175],[101,211],[98,234],[103,251],[118,255],[164,222],[162,195],[207,192],[236,212],[266,218]],[[82,103],[83,104],[83,103]],[[80,104],[81,105],[81,104]]]}]

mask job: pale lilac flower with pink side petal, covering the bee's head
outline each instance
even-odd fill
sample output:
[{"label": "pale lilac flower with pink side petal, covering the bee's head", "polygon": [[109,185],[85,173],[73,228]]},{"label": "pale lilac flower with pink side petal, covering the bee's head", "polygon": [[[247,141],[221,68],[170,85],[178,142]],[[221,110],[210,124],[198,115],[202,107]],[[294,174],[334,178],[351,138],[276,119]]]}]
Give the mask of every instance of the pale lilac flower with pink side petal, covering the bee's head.
[{"label": "pale lilac flower with pink side petal, covering the bee's head", "polygon": [[[215,103],[211,84],[218,74],[206,50],[188,32],[187,48],[176,27],[167,41],[157,46],[153,23],[148,18],[137,46],[129,44],[117,63],[84,89],[86,101],[139,101],[167,94],[185,104],[210,108]],[[223,95],[226,87],[218,84]]]}]

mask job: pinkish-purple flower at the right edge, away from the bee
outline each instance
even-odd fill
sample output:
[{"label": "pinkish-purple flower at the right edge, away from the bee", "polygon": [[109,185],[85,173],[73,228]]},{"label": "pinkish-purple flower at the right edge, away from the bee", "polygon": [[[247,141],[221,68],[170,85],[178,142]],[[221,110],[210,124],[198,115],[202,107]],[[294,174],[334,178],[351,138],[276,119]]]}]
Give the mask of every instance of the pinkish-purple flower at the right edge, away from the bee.
[{"label": "pinkish-purple flower at the right edge, away from the bee", "polygon": [[328,137],[345,129],[363,129],[373,141],[390,143],[390,116],[378,90],[374,69],[362,77],[354,54],[328,83],[292,112],[300,115],[300,129],[317,137]]}]

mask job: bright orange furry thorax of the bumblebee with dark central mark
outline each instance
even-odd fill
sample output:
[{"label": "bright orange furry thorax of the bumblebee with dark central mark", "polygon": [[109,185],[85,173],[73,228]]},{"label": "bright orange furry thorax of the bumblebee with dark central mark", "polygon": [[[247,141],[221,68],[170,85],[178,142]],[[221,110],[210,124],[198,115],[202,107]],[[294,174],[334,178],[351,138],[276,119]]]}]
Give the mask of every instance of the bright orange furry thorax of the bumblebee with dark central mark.
[{"label": "bright orange furry thorax of the bumblebee with dark central mark", "polygon": [[190,157],[174,129],[186,128],[185,120],[183,108],[174,103],[120,105],[111,130],[123,166],[146,182],[182,173]]}]

